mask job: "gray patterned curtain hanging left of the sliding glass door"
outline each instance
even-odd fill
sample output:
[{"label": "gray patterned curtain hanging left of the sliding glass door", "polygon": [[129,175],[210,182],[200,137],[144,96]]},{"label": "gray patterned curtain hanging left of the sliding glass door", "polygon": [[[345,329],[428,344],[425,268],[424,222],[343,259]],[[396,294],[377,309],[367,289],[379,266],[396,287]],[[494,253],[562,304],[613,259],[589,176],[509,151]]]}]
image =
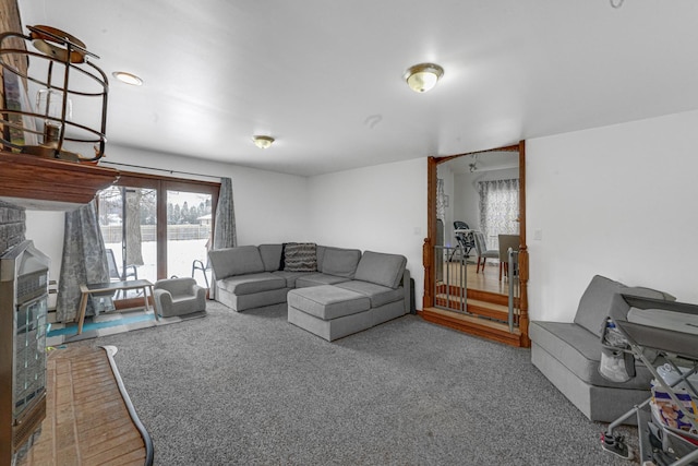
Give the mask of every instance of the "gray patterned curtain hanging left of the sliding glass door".
[{"label": "gray patterned curtain hanging left of the sliding glass door", "polygon": [[[56,319],[59,322],[76,319],[81,298],[80,285],[107,282],[109,282],[107,252],[99,231],[96,203],[93,200],[88,204],[65,213]],[[89,301],[86,313],[94,314]]]}]

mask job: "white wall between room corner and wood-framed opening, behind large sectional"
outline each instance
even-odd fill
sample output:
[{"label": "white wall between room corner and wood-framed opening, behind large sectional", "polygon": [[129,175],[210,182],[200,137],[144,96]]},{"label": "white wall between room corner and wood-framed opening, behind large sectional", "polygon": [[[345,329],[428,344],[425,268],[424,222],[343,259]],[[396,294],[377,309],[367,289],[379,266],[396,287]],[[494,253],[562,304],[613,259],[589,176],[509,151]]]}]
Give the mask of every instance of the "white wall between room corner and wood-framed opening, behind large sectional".
[{"label": "white wall between room corner and wood-framed opening, behind large sectional", "polygon": [[426,158],[312,177],[311,231],[321,244],[402,254],[422,308]]}]

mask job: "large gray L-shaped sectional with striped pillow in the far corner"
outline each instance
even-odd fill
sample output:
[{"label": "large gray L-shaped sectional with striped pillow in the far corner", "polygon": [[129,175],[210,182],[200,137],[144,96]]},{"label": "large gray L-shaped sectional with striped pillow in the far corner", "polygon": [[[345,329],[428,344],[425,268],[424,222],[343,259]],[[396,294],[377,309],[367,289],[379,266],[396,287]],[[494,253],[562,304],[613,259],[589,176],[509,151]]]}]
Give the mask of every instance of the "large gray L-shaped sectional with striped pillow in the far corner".
[{"label": "large gray L-shaped sectional with striped pillow in the far corner", "polygon": [[399,254],[285,243],[208,255],[217,301],[238,312],[288,302],[290,323],[327,340],[411,309],[410,273]]}]

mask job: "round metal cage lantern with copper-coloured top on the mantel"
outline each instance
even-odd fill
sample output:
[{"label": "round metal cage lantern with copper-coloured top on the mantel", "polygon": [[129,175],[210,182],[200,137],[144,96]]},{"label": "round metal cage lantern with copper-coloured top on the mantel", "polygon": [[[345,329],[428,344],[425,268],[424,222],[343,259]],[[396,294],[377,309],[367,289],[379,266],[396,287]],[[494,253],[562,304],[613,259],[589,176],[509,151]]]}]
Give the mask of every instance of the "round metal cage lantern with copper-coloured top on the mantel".
[{"label": "round metal cage lantern with copper-coloured top on the mantel", "polygon": [[[0,147],[70,162],[99,160],[107,142],[109,92],[106,74],[94,63],[99,57],[64,31],[46,25],[27,29],[28,35],[0,34],[0,67],[38,87],[36,108],[17,104],[3,109],[0,126],[10,131],[0,134]],[[19,48],[20,40],[33,47]],[[72,118],[73,107],[79,121]]]}]

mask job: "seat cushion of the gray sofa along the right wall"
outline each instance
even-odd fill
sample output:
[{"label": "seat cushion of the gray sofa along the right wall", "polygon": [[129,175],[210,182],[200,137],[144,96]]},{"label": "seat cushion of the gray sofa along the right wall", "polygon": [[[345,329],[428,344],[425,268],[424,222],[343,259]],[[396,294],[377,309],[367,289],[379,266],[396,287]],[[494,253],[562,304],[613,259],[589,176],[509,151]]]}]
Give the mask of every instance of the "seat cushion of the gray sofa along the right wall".
[{"label": "seat cushion of the gray sofa along the right wall", "polygon": [[636,377],[624,383],[611,382],[599,373],[601,338],[581,325],[568,322],[532,321],[529,325],[531,340],[552,355],[582,381],[607,387],[648,390],[652,375],[636,361]]}]

